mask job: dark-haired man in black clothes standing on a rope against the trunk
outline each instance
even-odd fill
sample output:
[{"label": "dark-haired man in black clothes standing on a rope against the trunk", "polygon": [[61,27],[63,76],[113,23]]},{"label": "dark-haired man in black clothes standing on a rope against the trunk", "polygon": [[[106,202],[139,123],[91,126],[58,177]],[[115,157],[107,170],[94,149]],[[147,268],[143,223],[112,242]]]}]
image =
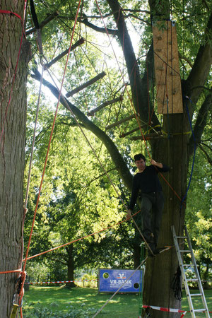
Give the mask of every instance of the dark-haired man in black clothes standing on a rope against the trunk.
[{"label": "dark-haired man in black clothes standing on a rope against the trunk", "polygon": [[[142,233],[148,245],[154,254],[158,253],[158,237],[160,231],[160,222],[163,213],[163,189],[158,179],[158,172],[167,172],[170,170],[167,165],[157,163],[151,159],[151,165],[146,166],[146,158],[139,153],[134,156],[136,167],[139,172],[133,179],[131,192],[131,201],[129,204],[128,217],[131,216],[136,199],[141,191],[141,222]],[[152,209],[152,216],[151,216]],[[152,256],[152,253],[149,253]]]}]

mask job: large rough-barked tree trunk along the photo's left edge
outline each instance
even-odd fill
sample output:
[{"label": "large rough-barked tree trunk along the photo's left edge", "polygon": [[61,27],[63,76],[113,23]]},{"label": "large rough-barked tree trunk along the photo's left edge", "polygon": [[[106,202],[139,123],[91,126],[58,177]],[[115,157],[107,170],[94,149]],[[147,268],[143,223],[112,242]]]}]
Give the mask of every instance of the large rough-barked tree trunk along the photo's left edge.
[{"label": "large rough-barked tree trunk along the photo's left edge", "polygon": [[[13,11],[20,16],[23,16],[23,6],[24,1],[1,1],[1,9]],[[11,85],[22,28],[18,17],[0,13],[0,271],[20,269],[22,258],[25,84],[29,56],[26,42],[23,42],[20,52],[13,88]],[[17,273],[0,275],[2,318],[10,317],[17,276]]]}]

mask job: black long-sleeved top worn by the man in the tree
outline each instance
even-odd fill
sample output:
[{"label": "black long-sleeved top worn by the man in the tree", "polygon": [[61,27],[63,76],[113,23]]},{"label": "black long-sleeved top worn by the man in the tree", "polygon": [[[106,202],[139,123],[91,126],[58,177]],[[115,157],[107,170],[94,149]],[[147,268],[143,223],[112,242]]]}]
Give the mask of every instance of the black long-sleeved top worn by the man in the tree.
[{"label": "black long-sleeved top worn by the man in the tree", "polygon": [[158,172],[167,172],[170,168],[163,164],[163,168],[155,167],[154,165],[146,166],[143,172],[136,173],[133,179],[133,187],[131,192],[131,201],[129,204],[129,209],[133,210],[136,199],[141,193],[151,193],[151,192],[162,192],[162,187],[158,178]]}]

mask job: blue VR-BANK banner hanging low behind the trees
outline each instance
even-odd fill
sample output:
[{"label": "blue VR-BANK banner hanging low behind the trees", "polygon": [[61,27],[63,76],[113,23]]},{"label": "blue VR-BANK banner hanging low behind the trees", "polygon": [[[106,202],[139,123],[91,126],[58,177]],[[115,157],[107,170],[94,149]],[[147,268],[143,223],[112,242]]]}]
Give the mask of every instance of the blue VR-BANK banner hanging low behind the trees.
[{"label": "blue VR-BANK banner hanging low behind the trees", "polygon": [[142,290],[142,271],[133,269],[100,269],[99,292],[139,293]]}]

